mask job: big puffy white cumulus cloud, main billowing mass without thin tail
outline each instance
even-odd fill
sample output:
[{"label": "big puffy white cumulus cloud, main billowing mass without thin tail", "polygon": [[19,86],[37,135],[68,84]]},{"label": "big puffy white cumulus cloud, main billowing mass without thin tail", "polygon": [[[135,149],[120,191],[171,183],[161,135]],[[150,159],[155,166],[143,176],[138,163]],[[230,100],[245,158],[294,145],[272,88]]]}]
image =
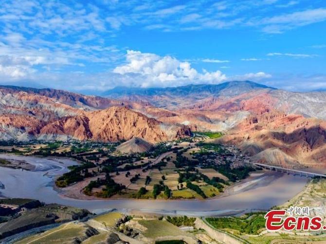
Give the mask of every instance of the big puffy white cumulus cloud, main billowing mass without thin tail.
[{"label": "big puffy white cumulus cloud, main billowing mass without thin tail", "polygon": [[199,73],[189,62],[182,62],[172,56],[158,56],[151,53],[128,50],[127,63],[113,69],[120,75],[135,74],[144,78],[142,87],[169,86],[183,83],[219,83],[226,80],[220,71]]}]

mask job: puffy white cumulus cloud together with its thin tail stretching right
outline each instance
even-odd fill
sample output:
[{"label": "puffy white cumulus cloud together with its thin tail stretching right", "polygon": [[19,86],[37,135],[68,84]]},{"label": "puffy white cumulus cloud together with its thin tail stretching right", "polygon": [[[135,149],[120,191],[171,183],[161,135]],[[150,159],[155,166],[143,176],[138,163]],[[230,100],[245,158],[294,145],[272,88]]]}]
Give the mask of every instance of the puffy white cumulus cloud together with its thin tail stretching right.
[{"label": "puffy white cumulus cloud together with its thin tail stretching right", "polygon": [[[230,68],[222,66],[220,68]],[[172,56],[158,56],[151,53],[128,50],[126,64],[117,66],[113,73],[127,86],[167,87],[187,84],[218,84],[227,80],[259,81],[271,78],[265,72],[227,76],[217,70],[202,72],[191,67],[188,61],[180,61]],[[122,85],[122,84],[119,84]]]}]

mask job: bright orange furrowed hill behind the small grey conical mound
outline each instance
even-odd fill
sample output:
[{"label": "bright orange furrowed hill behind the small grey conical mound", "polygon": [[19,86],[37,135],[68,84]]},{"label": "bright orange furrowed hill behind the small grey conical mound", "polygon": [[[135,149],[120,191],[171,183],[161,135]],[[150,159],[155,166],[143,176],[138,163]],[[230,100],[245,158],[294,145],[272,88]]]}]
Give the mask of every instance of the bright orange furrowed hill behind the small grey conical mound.
[{"label": "bright orange furrowed hill behind the small grey conical mound", "polygon": [[95,141],[120,141],[140,137],[149,142],[160,142],[190,136],[186,126],[168,126],[142,113],[126,107],[64,117],[43,127],[42,139],[75,139]]}]

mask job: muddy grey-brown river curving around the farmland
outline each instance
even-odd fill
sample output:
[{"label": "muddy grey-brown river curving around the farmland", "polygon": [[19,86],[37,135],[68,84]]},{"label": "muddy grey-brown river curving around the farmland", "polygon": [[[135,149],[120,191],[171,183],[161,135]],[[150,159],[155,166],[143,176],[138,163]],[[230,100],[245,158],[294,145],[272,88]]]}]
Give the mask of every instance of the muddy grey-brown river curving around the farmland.
[{"label": "muddy grey-brown river curving around the farmland", "polygon": [[253,173],[246,180],[228,188],[220,197],[208,200],[78,200],[62,197],[53,188],[54,177],[76,164],[72,159],[0,154],[7,160],[24,160],[35,170],[0,167],[1,197],[33,198],[45,203],[58,203],[87,208],[94,212],[110,209],[119,211],[180,214],[192,216],[229,215],[251,210],[267,210],[280,205],[299,193],[306,185],[306,177],[280,172]]}]

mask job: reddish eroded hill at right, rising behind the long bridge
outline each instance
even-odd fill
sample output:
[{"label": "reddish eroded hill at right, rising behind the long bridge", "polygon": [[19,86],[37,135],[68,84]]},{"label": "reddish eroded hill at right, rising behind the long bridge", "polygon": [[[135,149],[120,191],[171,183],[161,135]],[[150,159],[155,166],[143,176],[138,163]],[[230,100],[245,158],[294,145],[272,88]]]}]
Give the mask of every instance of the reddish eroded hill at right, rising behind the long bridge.
[{"label": "reddish eroded hill at right, rising behind the long bridge", "polygon": [[237,145],[269,164],[326,164],[326,122],[278,111],[251,115],[220,142]]}]

